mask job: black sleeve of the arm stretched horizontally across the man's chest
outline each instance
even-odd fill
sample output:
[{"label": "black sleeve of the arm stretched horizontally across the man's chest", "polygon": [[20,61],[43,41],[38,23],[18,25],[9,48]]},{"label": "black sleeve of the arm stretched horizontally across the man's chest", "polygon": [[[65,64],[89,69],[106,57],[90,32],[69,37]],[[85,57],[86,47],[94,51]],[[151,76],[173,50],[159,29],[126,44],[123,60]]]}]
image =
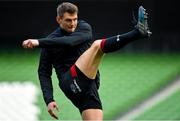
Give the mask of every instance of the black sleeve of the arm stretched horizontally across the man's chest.
[{"label": "black sleeve of the arm stretched horizontally across the man's chest", "polygon": [[42,38],[38,39],[39,47],[73,47],[79,45],[85,41],[92,39],[91,26],[82,21],[79,22],[75,32],[68,36],[55,37],[55,38]]}]

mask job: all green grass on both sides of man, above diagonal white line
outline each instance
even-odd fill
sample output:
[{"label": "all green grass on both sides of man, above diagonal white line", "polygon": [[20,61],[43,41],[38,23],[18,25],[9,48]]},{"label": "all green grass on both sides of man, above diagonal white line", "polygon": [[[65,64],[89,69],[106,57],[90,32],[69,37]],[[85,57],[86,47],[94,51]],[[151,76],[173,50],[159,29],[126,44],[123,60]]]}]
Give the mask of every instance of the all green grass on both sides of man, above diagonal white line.
[{"label": "all green grass on both sides of man, above diagonal white line", "polygon": [[[0,82],[32,81],[39,86],[37,75],[39,50],[0,52]],[[104,119],[123,115],[136,104],[170,83],[180,72],[179,54],[123,54],[106,55],[100,65],[100,97]],[[54,97],[62,120],[81,119],[78,110],[63,95],[53,74]],[[41,92],[41,89],[39,88]],[[52,119],[40,93],[37,105],[41,120]]]}]

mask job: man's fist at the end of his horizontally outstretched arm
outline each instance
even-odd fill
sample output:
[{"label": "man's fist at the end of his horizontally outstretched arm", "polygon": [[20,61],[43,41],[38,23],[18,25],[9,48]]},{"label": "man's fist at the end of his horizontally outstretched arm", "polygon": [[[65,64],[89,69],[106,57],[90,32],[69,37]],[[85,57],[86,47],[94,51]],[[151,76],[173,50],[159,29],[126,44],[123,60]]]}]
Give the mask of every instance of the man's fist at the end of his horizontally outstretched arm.
[{"label": "man's fist at the end of his horizontally outstretched arm", "polygon": [[39,46],[39,41],[37,39],[27,39],[23,41],[22,46],[24,48],[34,48]]}]

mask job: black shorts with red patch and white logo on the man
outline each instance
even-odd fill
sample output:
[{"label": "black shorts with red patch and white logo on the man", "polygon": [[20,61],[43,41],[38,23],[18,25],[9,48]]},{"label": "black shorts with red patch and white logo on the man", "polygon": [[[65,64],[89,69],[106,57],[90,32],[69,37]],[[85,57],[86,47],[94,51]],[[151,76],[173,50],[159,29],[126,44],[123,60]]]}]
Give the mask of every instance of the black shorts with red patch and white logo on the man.
[{"label": "black shorts with red patch and white logo on the man", "polygon": [[96,81],[85,76],[75,65],[64,74],[59,85],[81,113],[86,109],[102,109]]}]

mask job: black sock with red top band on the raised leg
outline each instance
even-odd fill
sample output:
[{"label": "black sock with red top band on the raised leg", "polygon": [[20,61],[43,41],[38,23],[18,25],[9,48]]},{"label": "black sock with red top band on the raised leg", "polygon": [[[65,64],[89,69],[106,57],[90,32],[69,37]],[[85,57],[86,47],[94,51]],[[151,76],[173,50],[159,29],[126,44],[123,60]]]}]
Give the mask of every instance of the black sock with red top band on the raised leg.
[{"label": "black sock with red top band on the raised leg", "polygon": [[137,29],[134,29],[128,33],[113,36],[103,39],[101,42],[101,49],[104,53],[114,52],[123,48],[128,43],[140,38],[140,33]]}]

